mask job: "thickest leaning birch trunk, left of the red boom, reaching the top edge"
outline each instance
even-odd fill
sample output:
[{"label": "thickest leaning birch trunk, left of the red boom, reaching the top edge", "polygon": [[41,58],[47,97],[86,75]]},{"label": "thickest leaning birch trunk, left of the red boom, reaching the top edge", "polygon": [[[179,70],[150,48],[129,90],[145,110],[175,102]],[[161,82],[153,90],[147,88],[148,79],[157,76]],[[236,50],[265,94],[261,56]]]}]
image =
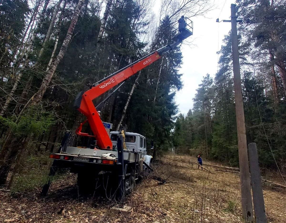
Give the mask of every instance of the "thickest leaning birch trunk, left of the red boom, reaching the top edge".
[{"label": "thickest leaning birch trunk, left of the red boom, reaching the top edge", "polygon": [[71,24],[69,26],[69,29],[67,31],[67,35],[65,36],[65,39],[63,40],[63,44],[61,46],[61,49],[59,50],[59,54],[57,54],[55,60],[51,64],[49,71],[47,72],[45,78],[43,79],[43,82],[38,90],[38,92],[31,98],[32,104],[37,104],[42,98],[47,90],[47,87],[49,86],[49,83],[51,82],[51,79],[53,75],[55,74],[55,70],[57,69],[57,66],[59,62],[62,60],[63,56],[65,55],[65,52],[67,51],[67,47],[69,45],[69,42],[72,38],[72,34],[74,32],[74,28],[76,26],[76,23],[78,21],[78,16],[80,14],[80,10],[82,8],[84,0],[79,0],[78,5],[76,7],[76,10],[74,11],[74,15],[71,21]]}]

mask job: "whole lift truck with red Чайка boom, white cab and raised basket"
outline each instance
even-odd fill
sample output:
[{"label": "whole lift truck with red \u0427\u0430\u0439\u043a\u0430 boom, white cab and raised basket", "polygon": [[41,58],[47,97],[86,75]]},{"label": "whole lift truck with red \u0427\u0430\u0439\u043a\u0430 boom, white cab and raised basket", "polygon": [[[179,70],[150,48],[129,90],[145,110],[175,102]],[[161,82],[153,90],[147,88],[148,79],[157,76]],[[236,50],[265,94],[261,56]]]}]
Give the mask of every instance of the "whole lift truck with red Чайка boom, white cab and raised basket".
[{"label": "whole lift truck with red \u0427\u0430\u0439\u043a\u0430 boom, white cab and raised basket", "polygon": [[[65,133],[57,153],[50,153],[49,155],[53,159],[49,172],[51,177],[43,186],[42,196],[47,194],[52,176],[55,175],[56,170],[69,168],[71,173],[78,174],[77,183],[80,191],[87,191],[93,186],[94,181],[100,174],[108,173],[110,179],[114,180],[112,181],[113,184],[116,185],[116,197],[122,201],[124,194],[134,188],[135,182],[140,175],[152,170],[150,167],[150,159],[152,157],[147,155],[146,152],[146,138],[143,135],[132,132],[109,132],[112,124],[101,120],[93,100],[118,84],[122,86],[132,75],[159,60],[165,52],[172,50],[184,39],[191,36],[193,32],[192,21],[182,16],[178,22],[178,33],[172,37],[172,44],[151,52],[93,84],[89,90],[78,93],[74,102],[74,108],[85,115],[86,120],[80,124],[76,134],[92,137],[95,140],[92,140],[93,143],[88,148],[69,147],[67,145],[71,132],[67,131]],[[93,134],[82,132],[83,125],[87,122]]]}]

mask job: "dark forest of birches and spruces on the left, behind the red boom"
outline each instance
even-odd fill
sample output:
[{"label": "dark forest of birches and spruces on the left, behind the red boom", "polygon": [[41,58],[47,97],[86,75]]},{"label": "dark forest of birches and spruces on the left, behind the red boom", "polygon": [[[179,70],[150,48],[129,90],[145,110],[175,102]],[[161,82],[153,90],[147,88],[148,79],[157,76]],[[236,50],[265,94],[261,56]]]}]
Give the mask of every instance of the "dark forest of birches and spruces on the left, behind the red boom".
[{"label": "dark forest of birches and spruces on the left, behind the red boom", "polygon": [[[13,177],[44,175],[47,168],[41,174],[29,168],[47,166],[48,154],[57,151],[67,130],[69,145],[88,145],[90,139],[74,133],[84,121],[73,108],[78,92],[169,44],[181,15],[199,16],[212,8],[204,0],[163,0],[156,18],[153,5],[151,0],[1,1],[0,184],[14,164]],[[102,121],[112,123],[112,130],[127,126],[154,139],[154,155],[171,148],[181,63],[178,46],[130,77],[99,109]],[[88,125],[83,131],[90,132]],[[42,180],[33,177],[34,183]]]}]

